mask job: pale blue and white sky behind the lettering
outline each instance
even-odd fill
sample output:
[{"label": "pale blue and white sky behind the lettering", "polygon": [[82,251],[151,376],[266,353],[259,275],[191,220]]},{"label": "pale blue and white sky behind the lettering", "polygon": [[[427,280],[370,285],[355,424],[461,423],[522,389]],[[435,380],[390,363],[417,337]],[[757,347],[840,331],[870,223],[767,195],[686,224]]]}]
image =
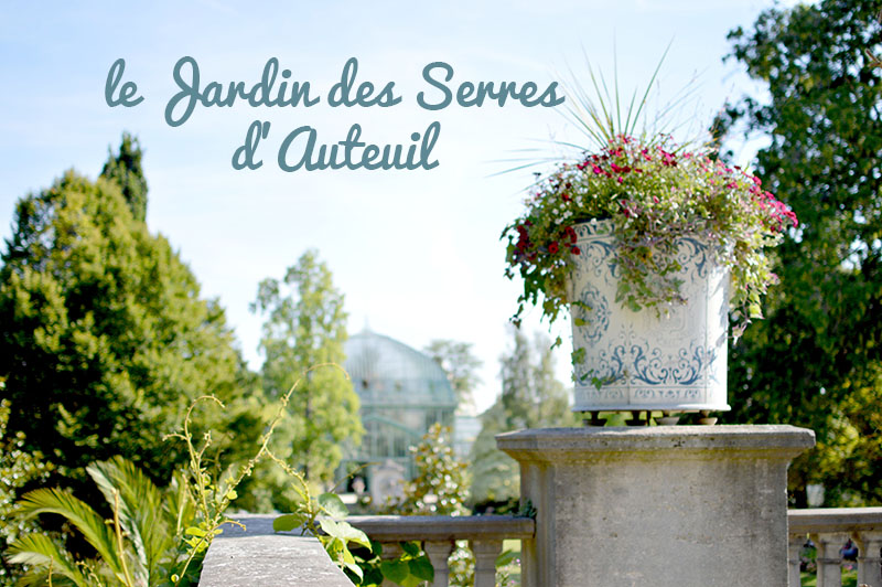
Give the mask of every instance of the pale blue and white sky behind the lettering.
[{"label": "pale blue and white sky behind the lettering", "polygon": [[[509,344],[508,318],[520,284],[504,277],[503,228],[521,212],[534,171],[526,161],[561,154],[553,141],[585,143],[564,107],[420,107],[438,104],[443,86],[463,83],[589,84],[589,63],[623,95],[643,88],[670,45],[653,87],[649,111],[691,88],[679,116],[702,128],[723,103],[762,95],[730,52],[727,33],[749,30],[759,0],[549,0],[527,2],[0,2],[0,237],[12,228],[15,201],[47,188],[65,170],[95,178],[123,131],[144,150],[150,193],[147,222],[164,235],[202,284],[203,295],[226,308],[238,344],[254,369],[261,317],[249,311],[257,287],[281,278],[309,248],[333,271],[344,292],[348,330],[369,327],[420,349],[432,339],[473,344],[483,361],[478,409],[499,393],[498,357]],[[170,126],[175,64],[195,60],[200,88],[211,82],[249,88],[275,57],[289,82],[310,84],[314,106],[196,105],[185,122]],[[389,83],[400,103],[380,107],[329,105],[329,93],[355,57],[355,86],[375,93]],[[108,105],[111,65],[125,60],[117,85],[137,85],[137,106]],[[182,67],[186,84],[192,68]],[[277,84],[281,77],[277,78]],[[185,84],[185,85],[186,85]],[[278,87],[278,85],[277,85]],[[559,95],[562,95],[558,90]],[[376,95],[376,94],[375,94]],[[564,102],[564,104],[568,104]],[[174,110],[180,116],[180,107]],[[234,153],[250,125],[269,122],[254,149],[257,169],[234,169]],[[432,169],[284,171],[278,156],[297,129],[314,129],[319,145],[335,145],[359,125],[361,140],[405,150],[437,122],[427,157]],[[290,141],[292,164],[305,151],[305,132]],[[417,142],[419,142],[419,140]],[[753,142],[733,145],[746,161]],[[419,151],[418,151],[419,153]],[[507,171],[507,172],[506,172]],[[526,329],[549,332],[529,312]],[[569,381],[569,324],[558,372]]]}]

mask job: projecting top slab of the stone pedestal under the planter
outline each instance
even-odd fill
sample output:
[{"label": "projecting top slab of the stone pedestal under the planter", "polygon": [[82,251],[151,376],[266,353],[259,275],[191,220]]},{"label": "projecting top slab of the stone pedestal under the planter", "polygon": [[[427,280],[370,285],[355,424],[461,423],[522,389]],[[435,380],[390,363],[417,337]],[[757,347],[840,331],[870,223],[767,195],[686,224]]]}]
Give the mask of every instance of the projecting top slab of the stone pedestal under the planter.
[{"label": "projecting top slab of the stone pedestal under the planter", "polygon": [[674,449],[684,457],[695,451],[732,450],[792,459],[814,445],[815,433],[784,425],[539,428],[496,436],[499,449],[518,460],[537,461]]}]

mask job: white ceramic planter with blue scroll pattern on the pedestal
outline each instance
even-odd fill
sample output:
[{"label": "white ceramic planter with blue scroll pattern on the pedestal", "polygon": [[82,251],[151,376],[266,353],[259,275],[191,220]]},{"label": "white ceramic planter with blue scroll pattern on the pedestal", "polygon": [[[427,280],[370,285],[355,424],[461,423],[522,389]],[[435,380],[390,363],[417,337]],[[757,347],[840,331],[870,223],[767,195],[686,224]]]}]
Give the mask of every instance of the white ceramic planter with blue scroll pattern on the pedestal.
[{"label": "white ceramic planter with blue scroll pattern on the pedestal", "polygon": [[[729,275],[695,238],[678,242],[680,294],[667,316],[615,301],[619,269],[610,221],[574,226],[581,254],[570,287],[590,310],[573,307],[573,412],[728,410],[725,396]],[[577,318],[585,325],[576,325]],[[598,387],[596,383],[601,383]]]}]

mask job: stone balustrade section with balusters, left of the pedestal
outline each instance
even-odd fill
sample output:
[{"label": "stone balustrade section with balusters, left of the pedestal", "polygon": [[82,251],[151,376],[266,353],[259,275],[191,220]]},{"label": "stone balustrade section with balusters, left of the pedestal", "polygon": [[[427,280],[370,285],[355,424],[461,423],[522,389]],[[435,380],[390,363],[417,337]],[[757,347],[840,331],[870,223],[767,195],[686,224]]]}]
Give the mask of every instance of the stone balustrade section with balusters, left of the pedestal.
[{"label": "stone balustrade section with balusters, left of the pedestal", "polygon": [[401,542],[421,542],[434,568],[432,587],[448,586],[456,541],[469,541],[475,556],[475,587],[494,587],[503,540],[533,538],[536,527],[529,517],[507,515],[356,515],[347,521],[383,545],[383,558],[399,556]]}]

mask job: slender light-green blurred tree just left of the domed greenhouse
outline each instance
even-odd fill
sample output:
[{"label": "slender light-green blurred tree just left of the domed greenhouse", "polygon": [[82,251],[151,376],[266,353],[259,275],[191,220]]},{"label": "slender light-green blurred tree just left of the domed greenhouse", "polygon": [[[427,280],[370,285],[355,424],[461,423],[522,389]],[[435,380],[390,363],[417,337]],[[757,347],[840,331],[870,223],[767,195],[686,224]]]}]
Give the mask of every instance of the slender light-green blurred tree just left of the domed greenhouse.
[{"label": "slender light-green blurred tree just left of the domed greenhouse", "polygon": [[[282,281],[261,281],[251,310],[267,316],[260,349],[269,397],[281,397],[311,367],[343,365],[347,337],[343,295],[315,250],[289,267]],[[309,371],[291,396],[289,410],[277,439],[290,447],[289,460],[306,479],[330,481],[342,445],[357,442],[363,431],[358,396],[342,366]]]}]

